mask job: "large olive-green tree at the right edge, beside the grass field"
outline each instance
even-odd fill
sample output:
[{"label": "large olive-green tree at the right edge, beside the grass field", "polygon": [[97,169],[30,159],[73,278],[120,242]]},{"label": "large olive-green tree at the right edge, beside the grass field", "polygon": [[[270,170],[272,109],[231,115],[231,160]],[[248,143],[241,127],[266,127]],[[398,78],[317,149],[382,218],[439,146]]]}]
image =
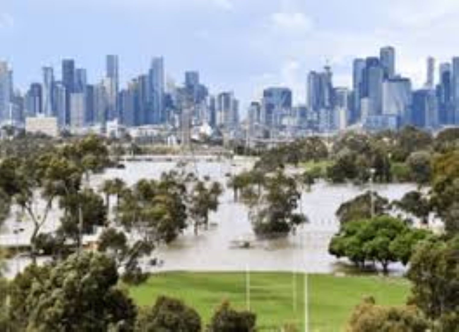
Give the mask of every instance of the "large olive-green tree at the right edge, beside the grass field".
[{"label": "large olive-green tree at the right edge, beside the grass field", "polygon": [[431,239],[421,243],[411,258],[407,274],[413,284],[410,303],[417,305],[431,320],[443,320],[447,323],[453,315],[457,319],[458,252],[458,237],[447,242]]}]

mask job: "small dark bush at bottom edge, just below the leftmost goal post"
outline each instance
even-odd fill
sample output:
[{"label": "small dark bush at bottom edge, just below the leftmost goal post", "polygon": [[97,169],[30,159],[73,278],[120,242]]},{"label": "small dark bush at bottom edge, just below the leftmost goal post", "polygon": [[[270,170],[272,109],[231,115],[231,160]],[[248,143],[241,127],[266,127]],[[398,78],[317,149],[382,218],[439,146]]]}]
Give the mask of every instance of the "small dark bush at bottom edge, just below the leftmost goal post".
[{"label": "small dark bush at bottom edge, just below the leftmost goal post", "polygon": [[229,302],[223,302],[212,317],[209,332],[252,332],[256,321],[257,316],[252,312],[236,311]]}]

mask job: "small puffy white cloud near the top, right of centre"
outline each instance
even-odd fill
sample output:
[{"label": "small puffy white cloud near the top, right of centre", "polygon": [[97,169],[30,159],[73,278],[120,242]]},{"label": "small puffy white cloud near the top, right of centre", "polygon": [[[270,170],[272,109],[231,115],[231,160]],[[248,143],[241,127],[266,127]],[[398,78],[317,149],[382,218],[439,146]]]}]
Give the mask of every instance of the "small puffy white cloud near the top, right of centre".
[{"label": "small puffy white cloud near the top, right of centre", "polygon": [[308,33],[313,28],[312,20],[302,12],[277,12],[271,15],[276,31],[289,34]]}]

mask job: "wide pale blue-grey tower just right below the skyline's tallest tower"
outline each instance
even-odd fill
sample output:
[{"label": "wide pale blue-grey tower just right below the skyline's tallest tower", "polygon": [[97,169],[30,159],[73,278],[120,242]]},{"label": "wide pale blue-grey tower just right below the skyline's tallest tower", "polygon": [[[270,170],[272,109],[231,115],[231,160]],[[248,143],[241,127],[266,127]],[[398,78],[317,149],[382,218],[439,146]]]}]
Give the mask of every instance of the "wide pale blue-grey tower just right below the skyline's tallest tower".
[{"label": "wide pale blue-grey tower just right below the skyline's tallest tower", "polygon": [[382,114],[397,116],[400,124],[409,122],[412,104],[411,81],[408,78],[392,78],[382,84]]}]

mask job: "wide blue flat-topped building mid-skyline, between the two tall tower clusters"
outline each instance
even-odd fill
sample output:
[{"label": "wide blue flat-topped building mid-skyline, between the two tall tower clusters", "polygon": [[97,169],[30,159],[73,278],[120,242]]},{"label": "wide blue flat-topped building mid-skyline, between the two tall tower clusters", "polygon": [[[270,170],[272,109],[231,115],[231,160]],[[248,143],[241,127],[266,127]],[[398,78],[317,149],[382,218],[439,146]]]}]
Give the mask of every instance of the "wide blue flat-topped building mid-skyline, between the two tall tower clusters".
[{"label": "wide blue flat-topped building mid-skyline, between the two tall tower clusters", "polygon": [[292,107],[291,89],[274,87],[263,90],[262,121],[268,127],[278,127],[282,116],[289,114]]}]

